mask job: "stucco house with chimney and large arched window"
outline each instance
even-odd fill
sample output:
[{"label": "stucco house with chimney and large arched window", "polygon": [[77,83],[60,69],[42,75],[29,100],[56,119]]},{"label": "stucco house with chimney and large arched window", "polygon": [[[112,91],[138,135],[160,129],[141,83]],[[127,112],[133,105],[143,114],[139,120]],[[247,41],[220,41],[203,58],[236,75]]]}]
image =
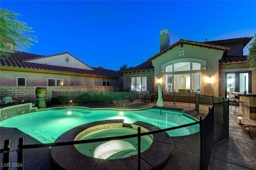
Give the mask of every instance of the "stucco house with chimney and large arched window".
[{"label": "stucco house with chimney and large arched window", "polygon": [[170,45],[170,32],[160,31],[160,52],[123,73],[130,91],[196,92],[230,98],[234,91],[256,93],[256,73],[243,48],[252,37],[195,42],[180,39]]}]

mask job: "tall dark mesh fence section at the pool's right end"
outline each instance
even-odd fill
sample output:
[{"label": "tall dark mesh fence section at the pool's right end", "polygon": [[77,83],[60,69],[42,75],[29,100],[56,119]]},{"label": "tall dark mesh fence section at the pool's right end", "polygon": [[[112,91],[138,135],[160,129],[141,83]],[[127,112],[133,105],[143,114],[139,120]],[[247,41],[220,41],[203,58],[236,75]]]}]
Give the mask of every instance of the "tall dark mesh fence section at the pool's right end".
[{"label": "tall dark mesh fence section at the pool's right end", "polygon": [[[202,99],[200,97],[201,95],[196,95],[196,99]],[[202,126],[200,126],[200,169],[208,169],[214,144],[228,137],[229,101],[224,98],[217,98],[213,96],[202,97],[204,98],[202,103],[210,104],[209,102],[212,102],[212,107],[208,108],[209,111],[202,121]],[[200,101],[197,100],[196,103],[198,104],[197,107],[199,108]],[[202,148],[204,148],[204,150],[202,150]]]}]

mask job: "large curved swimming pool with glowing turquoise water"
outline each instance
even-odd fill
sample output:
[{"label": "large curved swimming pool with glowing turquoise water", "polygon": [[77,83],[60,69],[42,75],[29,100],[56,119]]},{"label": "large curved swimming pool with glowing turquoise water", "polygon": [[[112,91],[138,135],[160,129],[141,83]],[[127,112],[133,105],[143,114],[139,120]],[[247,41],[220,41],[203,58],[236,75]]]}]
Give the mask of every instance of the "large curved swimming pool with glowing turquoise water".
[{"label": "large curved swimming pool with glowing turquoise water", "polygon": [[[1,121],[0,126],[16,127],[42,143],[51,143],[64,132],[79,125],[111,119],[124,119],[124,123],[142,121],[162,129],[197,121],[196,119],[182,114],[181,111],[172,109],[162,109],[162,115],[160,115],[160,109],[158,108],[118,111],[110,108],[90,109],[86,107],[70,107],[60,109],[53,108],[46,111],[19,115]],[[169,136],[184,136],[198,131],[199,125],[193,125],[167,131],[167,133]]]}]

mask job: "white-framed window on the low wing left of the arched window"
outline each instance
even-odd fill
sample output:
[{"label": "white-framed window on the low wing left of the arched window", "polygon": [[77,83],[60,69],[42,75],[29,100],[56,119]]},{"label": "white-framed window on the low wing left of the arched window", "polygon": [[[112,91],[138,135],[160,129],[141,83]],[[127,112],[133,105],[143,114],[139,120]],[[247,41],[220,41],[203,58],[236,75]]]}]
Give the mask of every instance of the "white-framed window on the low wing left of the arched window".
[{"label": "white-framed window on the low wing left of the arched window", "polygon": [[132,91],[146,91],[147,77],[131,77]]}]

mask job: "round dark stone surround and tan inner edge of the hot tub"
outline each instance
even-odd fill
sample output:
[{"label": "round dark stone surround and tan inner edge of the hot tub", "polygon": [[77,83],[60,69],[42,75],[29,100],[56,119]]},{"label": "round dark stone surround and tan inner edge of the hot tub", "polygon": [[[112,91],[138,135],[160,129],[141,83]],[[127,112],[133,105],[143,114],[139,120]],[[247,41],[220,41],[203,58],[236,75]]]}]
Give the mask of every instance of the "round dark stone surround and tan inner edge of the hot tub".
[{"label": "round dark stone surround and tan inner edge of the hot tub", "polygon": [[[105,127],[104,127],[105,126]],[[104,120],[92,123],[86,123],[72,128],[60,135],[55,142],[66,142],[82,138],[84,135],[103,128],[141,128],[141,133],[160,130],[160,128],[148,123],[136,121],[132,124],[124,123],[124,120]],[[97,129],[98,128],[98,129]],[[86,132],[87,131],[87,132]],[[76,138],[76,139],[75,139]],[[166,132],[160,132],[150,135],[153,140],[148,149],[140,155],[141,169],[158,169],[163,166],[172,154],[172,139]],[[104,145],[106,146],[106,145]],[[142,146],[142,145],[141,145]],[[108,146],[106,146],[108,147]],[[125,151],[124,151],[125,152]],[[136,151],[135,151],[136,152]],[[63,170],[74,169],[94,169],[94,170],[114,170],[114,169],[137,169],[138,156],[134,154],[126,158],[116,158],[104,160],[87,156],[79,152],[74,145],[53,146],[51,156],[56,168]]]}]

